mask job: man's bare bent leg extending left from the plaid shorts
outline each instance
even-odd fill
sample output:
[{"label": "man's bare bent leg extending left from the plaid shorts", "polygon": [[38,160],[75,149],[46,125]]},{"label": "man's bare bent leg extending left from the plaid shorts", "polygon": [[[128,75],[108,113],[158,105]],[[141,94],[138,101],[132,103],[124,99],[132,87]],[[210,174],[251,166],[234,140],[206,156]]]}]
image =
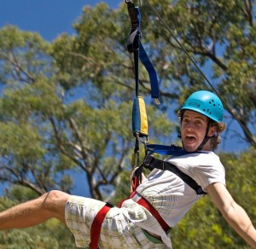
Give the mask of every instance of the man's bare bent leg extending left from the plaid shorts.
[{"label": "man's bare bent leg extending left from the plaid shorts", "polygon": [[0,230],[32,227],[50,217],[56,217],[66,223],[65,206],[68,198],[69,194],[54,190],[38,199],[0,212]]}]

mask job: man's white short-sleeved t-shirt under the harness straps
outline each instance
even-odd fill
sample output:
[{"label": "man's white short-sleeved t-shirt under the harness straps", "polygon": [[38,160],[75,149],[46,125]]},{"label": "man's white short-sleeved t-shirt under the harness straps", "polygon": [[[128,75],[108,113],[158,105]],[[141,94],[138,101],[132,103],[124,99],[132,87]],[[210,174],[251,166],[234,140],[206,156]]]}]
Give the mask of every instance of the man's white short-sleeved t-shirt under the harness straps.
[{"label": "man's white short-sleeved t-shirt under the harness straps", "polygon": [[[166,161],[177,165],[179,170],[192,177],[203,190],[213,182],[225,184],[224,166],[218,155],[213,152],[189,153],[179,157],[170,157]],[[136,203],[141,195],[159,211],[160,216],[170,227],[174,227],[195,201],[202,196],[197,195],[194,189],[171,171],[155,169],[138,186],[137,194],[132,199],[125,200],[122,205],[125,216],[137,226],[160,235],[168,247],[172,247],[170,237],[161,229],[149,211]]]}]

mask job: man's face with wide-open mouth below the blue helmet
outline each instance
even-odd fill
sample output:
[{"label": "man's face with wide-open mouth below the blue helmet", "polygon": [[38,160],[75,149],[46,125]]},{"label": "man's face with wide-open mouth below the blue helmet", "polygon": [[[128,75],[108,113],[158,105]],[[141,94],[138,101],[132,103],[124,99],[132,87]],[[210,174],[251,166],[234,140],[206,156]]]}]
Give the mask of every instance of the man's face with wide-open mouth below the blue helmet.
[{"label": "man's face with wide-open mouth below the blue helmet", "polygon": [[[186,110],[183,113],[181,136],[183,140],[183,148],[186,151],[194,152],[201,145],[201,142],[206,136],[207,125],[207,117],[201,113],[195,113],[189,110]],[[210,150],[210,147],[206,144],[203,149]]]}]

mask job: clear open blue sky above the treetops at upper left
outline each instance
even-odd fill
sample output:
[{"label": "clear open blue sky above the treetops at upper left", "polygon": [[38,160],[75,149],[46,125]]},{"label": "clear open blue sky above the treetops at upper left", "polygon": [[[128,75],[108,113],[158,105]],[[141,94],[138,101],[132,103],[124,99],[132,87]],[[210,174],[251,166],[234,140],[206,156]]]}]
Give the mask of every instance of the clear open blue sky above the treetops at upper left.
[{"label": "clear open blue sky above the treetops at upper left", "polygon": [[72,24],[85,5],[105,2],[117,8],[124,0],[1,0],[0,28],[15,25],[21,30],[38,32],[52,41],[63,32],[73,34]]}]

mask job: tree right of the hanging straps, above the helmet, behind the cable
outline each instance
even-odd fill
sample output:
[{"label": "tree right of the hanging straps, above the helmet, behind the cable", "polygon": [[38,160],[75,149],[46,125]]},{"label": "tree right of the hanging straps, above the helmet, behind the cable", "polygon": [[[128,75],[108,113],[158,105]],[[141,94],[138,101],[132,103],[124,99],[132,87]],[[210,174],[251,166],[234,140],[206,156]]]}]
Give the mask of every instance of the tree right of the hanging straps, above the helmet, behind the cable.
[{"label": "tree right of the hanging straps, above the helmet, behind the cable", "polygon": [[[148,3],[148,1],[146,1]],[[254,1],[150,1],[198,66],[211,68],[213,85],[227,103],[227,111],[243,125],[244,138],[255,146],[255,15]],[[205,78],[184,54],[170,32],[145,4],[143,38],[154,58],[161,89],[183,103],[193,91],[206,88]],[[172,50],[171,50],[172,49]],[[154,53],[155,54],[155,53]],[[170,89],[170,82],[172,89]],[[209,86],[209,85],[208,85]],[[177,96],[177,97],[176,97]]]}]

